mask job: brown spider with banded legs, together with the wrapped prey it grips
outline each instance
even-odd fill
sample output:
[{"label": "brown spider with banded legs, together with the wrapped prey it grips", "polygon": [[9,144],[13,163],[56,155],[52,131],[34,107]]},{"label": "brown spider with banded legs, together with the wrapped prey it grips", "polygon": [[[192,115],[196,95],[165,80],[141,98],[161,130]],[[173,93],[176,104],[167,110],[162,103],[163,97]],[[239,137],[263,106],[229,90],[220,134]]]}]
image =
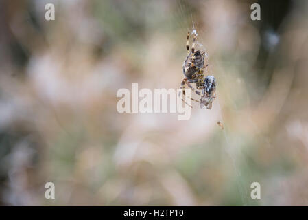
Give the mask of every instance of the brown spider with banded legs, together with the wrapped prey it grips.
[{"label": "brown spider with banded legs, together with the wrapped prey it grips", "polygon": [[[189,32],[187,34],[186,50],[188,54],[183,63],[183,74],[185,78],[182,80],[180,89],[182,89],[182,93],[185,96],[184,88],[186,83],[191,90],[195,91],[196,94],[201,96],[200,101],[195,100],[193,98],[191,98],[191,100],[200,102],[201,108],[205,106],[208,109],[211,109],[212,102],[216,97],[215,96],[216,80],[214,76],[206,76],[206,78],[204,78],[203,69],[208,66],[208,65],[204,66],[205,52],[200,50],[195,51],[195,42],[197,36],[196,30],[194,30],[193,33],[194,36],[193,36],[193,45],[191,47],[191,52],[189,51]],[[192,87],[191,83],[195,83],[197,90]],[[202,90],[202,94],[198,90]],[[180,93],[178,95],[180,96]],[[183,99],[182,101],[185,102],[185,100]],[[185,104],[187,103],[185,102]]]}]

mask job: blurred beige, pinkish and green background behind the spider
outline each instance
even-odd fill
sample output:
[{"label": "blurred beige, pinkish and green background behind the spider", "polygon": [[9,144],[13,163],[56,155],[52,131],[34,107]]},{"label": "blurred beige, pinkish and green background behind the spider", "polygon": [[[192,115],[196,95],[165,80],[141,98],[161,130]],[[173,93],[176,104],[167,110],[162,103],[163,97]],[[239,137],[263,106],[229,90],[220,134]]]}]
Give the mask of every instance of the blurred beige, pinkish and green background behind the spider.
[{"label": "blurred beige, pinkish and green background behind the spider", "polygon": [[[193,25],[213,108],[118,113],[180,87]],[[0,204],[308,205],[307,27],[307,1],[0,1]]]}]

